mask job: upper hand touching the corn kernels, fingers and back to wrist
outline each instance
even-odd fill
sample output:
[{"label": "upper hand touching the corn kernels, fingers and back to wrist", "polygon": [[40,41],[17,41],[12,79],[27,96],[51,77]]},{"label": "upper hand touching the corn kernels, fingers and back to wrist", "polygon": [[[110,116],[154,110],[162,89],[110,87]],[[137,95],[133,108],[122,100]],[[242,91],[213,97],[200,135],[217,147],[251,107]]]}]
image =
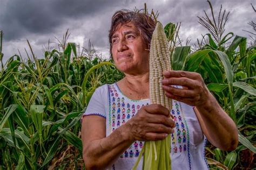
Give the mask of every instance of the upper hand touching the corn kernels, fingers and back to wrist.
[{"label": "upper hand touching the corn kernels, fingers and back to wrist", "polygon": [[[163,75],[163,89],[167,97],[198,107],[210,100],[211,93],[199,73],[169,70],[163,72]],[[183,88],[175,88],[173,85]]]}]

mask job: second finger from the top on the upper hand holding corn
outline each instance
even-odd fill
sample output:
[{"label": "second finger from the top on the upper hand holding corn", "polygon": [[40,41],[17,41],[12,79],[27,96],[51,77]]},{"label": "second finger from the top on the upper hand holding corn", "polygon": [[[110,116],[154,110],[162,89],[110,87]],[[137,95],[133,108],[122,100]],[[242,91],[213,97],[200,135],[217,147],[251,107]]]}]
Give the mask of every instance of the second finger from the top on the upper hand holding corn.
[{"label": "second finger from the top on the upper hand holding corn", "polygon": [[168,79],[163,79],[162,80],[163,85],[178,85],[178,86],[185,86],[190,89],[196,88],[197,82],[192,79],[188,79],[187,77],[171,77]]}]

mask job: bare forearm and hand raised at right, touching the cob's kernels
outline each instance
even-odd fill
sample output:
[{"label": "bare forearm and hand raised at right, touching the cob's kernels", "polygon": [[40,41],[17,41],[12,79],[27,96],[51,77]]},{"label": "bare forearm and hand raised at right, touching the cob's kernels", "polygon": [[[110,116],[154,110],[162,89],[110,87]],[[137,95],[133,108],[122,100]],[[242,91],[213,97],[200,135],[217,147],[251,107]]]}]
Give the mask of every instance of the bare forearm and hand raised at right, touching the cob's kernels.
[{"label": "bare forearm and hand raised at right, touching the cob's kernels", "polygon": [[[237,127],[207,89],[201,75],[173,70],[163,74],[166,96],[195,106],[194,110],[208,140],[221,150],[234,150],[238,145]],[[178,89],[172,85],[185,88]]]}]

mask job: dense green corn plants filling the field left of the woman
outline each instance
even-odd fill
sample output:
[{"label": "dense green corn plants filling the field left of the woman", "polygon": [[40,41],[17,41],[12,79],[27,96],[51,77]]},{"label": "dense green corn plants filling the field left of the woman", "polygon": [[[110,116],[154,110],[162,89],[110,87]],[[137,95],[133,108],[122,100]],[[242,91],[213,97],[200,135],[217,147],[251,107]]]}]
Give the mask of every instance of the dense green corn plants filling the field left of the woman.
[{"label": "dense green corn plants filling the field left of the woman", "polygon": [[28,45],[32,59],[14,55],[0,72],[0,167],[83,167],[80,117],[98,86],[123,75],[112,62],[77,56],[73,43],[43,59]]}]

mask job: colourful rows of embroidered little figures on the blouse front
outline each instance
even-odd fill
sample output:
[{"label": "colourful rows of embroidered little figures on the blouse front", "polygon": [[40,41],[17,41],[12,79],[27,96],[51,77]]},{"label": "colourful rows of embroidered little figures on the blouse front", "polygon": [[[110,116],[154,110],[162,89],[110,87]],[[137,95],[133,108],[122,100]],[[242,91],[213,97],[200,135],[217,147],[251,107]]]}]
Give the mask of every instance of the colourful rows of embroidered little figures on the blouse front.
[{"label": "colourful rows of embroidered little figures on the blouse front", "polygon": [[[118,87],[114,86],[114,84],[109,86],[109,93],[110,93],[109,119],[111,122],[110,129],[112,131],[117,129],[119,126],[125,124],[127,121],[129,121],[129,119],[132,118],[134,115],[136,115],[138,110],[142,108],[144,105],[149,104],[149,100],[147,100],[148,102],[144,102],[144,104],[141,104],[141,105],[136,103],[137,101],[129,100],[129,98],[125,97],[121,93],[121,91],[118,89]],[[174,133],[171,134],[172,148],[170,152],[173,152],[173,153],[189,152],[188,128],[187,128],[184,114],[182,113],[180,102],[173,100],[173,108],[171,110],[171,114],[173,115],[173,120],[176,123],[176,128],[174,130]],[[127,150],[120,156],[120,158],[138,157],[139,152],[143,147],[143,143],[144,142],[142,141],[135,141],[129,148],[127,148]]]}]

